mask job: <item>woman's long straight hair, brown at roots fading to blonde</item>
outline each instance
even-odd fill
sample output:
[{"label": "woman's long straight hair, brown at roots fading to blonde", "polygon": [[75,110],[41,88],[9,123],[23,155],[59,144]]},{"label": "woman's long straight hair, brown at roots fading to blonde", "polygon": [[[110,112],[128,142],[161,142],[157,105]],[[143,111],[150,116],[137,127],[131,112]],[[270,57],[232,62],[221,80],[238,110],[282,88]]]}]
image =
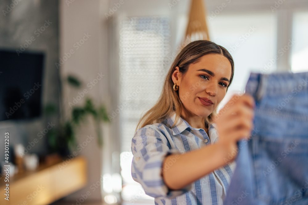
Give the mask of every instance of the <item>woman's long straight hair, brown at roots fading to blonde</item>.
[{"label": "woman's long straight hair, brown at roots fading to blonde", "polygon": [[[234,74],[234,62],[227,49],[211,41],[193,41],[186,45],[176,56],[165,78],[164,87],[158,101],[140,118],[136,127],[136,131],[137,129],[142,128],[148,124],[161,123],[166,118],[170,117],[174,111],[176,112],[176,118],[171,128],[177,123],[177,121],[180,119],[184,105],[180,100],[178,90],[173,90],[174,83],[171,78],[172,73],[174,72],[175,67],[179,66],[180,74],[184,75],[187,72],[190,64],[197,63],[200,61],[202,56],[209,53],[221,54],[228,58],[232,67],[230,78],[231,84]],[[216,110],[217,109],[215,109],[209,116],[205,118],[205,124],[212,122],[213,117],[216,114]]]}]

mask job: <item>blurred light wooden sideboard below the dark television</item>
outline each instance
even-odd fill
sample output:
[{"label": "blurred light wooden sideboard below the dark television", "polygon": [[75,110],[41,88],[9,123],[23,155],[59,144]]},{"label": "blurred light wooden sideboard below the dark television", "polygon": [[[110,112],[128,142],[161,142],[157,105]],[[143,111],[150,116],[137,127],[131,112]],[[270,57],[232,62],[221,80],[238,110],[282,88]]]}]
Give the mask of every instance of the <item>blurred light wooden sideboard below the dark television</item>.
[{"label": "blurred light wooden sideboard below the dark television", "polygon": [[[87,162],[75,157],[54,165],[42,165],[38,170],[5,177],[0,180],[1,205],[45,205],[67,196],[87,184]],[[9,183],[9,201],[4,188]]]}]

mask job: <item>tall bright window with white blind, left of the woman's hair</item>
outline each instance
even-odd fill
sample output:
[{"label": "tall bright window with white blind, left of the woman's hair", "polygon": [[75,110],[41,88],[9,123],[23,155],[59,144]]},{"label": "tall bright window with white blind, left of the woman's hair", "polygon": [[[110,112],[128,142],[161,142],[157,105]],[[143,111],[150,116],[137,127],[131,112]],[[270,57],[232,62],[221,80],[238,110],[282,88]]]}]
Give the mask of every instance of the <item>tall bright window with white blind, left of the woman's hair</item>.
[{"label": "tall bright window with white blind, left of the woman's hair", "polygon": [[122,197],[154,200],[132,179],[131,144],[137,121],[158,100],[167,74],[164,62],[171,51],[170,19],[132,17],[124,18],[120,25],[120,104],[125,105],[120,112]]}]

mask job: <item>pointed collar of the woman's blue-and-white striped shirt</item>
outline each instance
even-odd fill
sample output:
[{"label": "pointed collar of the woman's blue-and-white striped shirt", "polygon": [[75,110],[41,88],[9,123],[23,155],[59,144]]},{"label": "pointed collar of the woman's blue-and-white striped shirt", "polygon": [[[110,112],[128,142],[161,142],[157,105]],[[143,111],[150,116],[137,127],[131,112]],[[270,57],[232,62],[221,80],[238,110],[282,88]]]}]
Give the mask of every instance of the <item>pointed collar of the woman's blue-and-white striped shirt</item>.
[{"label": "pointed collar of the woman's blue-and-white striped shirt", "polygon": [[[175,117],[176,117],[176,112],[173,112],[172,115],[165,120],[165,124],[169,128],[173,125],[173,123],[175,121]],[[183,132],[184,130],[186,130],[187,128],[189,128],[188,131],[190,131],[192,129],[193,130],[200,130],[201,129],[201,128],[193,128],[192,126],[190,126],[188,124],[188,122],[186,122],[186,120],[184,120],[182,117],[180,117],[179,120],[177,121],[176,125],[173,128],[171,128],[172,134],[173,135],[178,135],[181,132]],[[213,128],[216,128],[216,124],[210,123],[209,131],[210,131],[210,129],[213,129]]]}]

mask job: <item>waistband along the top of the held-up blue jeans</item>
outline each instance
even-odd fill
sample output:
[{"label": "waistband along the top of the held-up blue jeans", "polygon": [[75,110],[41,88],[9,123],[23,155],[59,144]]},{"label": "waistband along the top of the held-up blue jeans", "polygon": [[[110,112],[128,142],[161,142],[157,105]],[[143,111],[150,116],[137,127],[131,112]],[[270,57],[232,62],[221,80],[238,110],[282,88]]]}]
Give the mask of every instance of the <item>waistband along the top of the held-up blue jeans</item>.
[{"label": "waistband along the top of the held-up blue jeans", "polygon": [[245,93],[261,99],[263,95],[307,92],[308,72],[304,73],[250,73]]}]

